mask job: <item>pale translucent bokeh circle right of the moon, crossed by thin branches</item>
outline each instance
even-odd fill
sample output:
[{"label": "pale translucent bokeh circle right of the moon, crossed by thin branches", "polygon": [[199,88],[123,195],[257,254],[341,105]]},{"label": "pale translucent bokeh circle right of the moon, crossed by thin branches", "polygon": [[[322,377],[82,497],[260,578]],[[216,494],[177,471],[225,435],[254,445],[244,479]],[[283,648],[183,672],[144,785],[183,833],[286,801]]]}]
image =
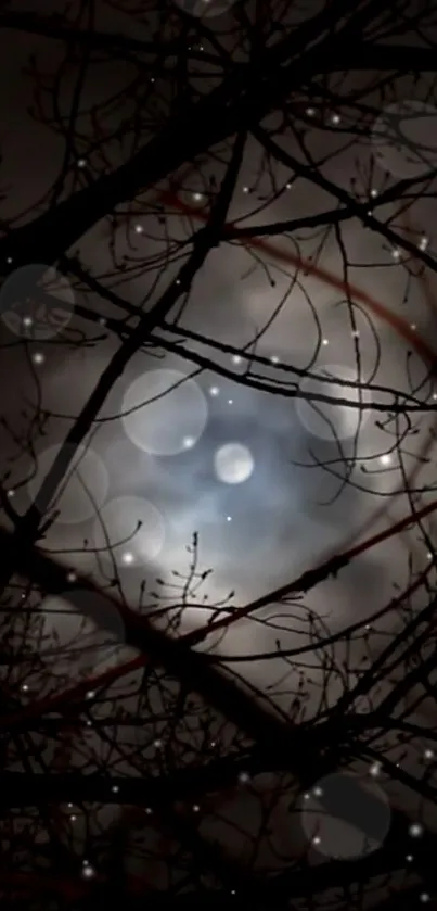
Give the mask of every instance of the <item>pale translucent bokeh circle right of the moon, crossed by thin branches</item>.
[{"label": "pale translucent bokeh circle right of the moon, crossed by thin branches", "polygon": [[[326,379],[338,380],[338,384],[326,382]],[[329,395],[330,398],[344,398],[352,403],[370,405],[372,396],[367,389],[340,385],[343,382],[357,382],[357,374],[338,365],[320,367],[317,375],[307,377],[300,383],[300,390],[306,395]],[[361,380],[362,382],[362,380]],[[361,393],[361,400],[360,400]],[[361,410],[347,405],[296,398],[296,412],[306,430],[320,440],[350,440],[361,431],[370,416],[370,410]],[[361,417],[361,421],[360,421]]]}]

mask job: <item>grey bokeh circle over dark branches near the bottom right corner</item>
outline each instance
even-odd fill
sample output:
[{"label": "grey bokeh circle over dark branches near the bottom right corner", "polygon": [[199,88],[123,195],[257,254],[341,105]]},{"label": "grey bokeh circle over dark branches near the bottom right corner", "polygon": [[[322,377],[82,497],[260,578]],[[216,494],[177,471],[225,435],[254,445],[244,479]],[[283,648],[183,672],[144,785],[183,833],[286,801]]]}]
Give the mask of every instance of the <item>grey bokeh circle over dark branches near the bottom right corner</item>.
[{"label": "grey bokeh circle over dark branches near the bottom right corner", "polygon": [[337,860],[362,858],[381,848],[390,819],[383,789],[348,772],[321,779],[301,804],[301,825],[311,846]]}]

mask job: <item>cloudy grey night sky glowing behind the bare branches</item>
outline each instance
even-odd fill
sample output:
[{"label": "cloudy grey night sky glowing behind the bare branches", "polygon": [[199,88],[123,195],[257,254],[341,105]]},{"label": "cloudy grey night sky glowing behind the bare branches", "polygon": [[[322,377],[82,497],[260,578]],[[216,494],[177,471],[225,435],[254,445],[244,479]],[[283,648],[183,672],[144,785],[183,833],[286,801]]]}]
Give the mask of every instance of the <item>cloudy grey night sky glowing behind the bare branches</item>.
[{"label": "cloudy grey night sky glowing behind the bare branches", "polygon": [[[15,5],[20,11],[20,4]],[[55,7],[48,4],[47,13]],[[11,8],[15,11],[14,3]],[[111,31],[123,23],[128,34],[146,35],[145,25],[134,25],[132,18],[105,4],[98,5],[97,20]],[[205,20],[207,24],[214,21]],[[62,137],[36,117],[37,99],[44,116],[56,117],[53,98],[50,92],[33,98],[31,75],[24,72],[30,54],[36,54],[42,69],[55,71],[62,45],[8,29],[0,40],[0,217],[17,217],[21,225],[44,211],[64,166],[65,188],[78,189],[119,166],[130,154],[130,143],[129,139],[118,145],[110,141],[103,159],[91,149],[90,121],[85,116],[76,148],[65,163]],[[57,101],[65,110],[76,71],[67,67],[61,81]],[[81,89],[81,106],[102,104],[126,87],[134,72],[134,65],[123,61],[91,67]],[[371,74],[364,78],[370,81]],[[159,75],[152,79],[149,100],[144,89],[144,122],[147,103],[157,117],[159,105],[166,103]],[[347,111],[338,113],[332,106],[321,114],[307,107],[305,148],[331,185],[365,201],[369,213],[391,219],[394,230],[433,255],[432,194],[411,203],[410,235],[395,203],[377,210],[380,194],[396,180],[419,177],[437,166],[437,106],[427,93],[426,79],[421,92],[412,80],[399,83],[398,94],[385,101],[377,93],[370,96],[373,129],[359,139],[350,138]],[[137,102],[140,97],[141,92]],[[417,102],[417,97],[423,101]],[[133,107],[127,96],[125,106],[114,104],[99,115],[100,127],[110,131]],[[395,141],[389,130],[406,112],[412,117],[408,142]],[[304,154],[292,135],[286,148],[294,156]],[[178,172],[165,220],[159,217],[159,192],[152,188],[136,203],[120,206],[111,224],[94,226],[75,244],[72,255],[130,307],[146,312],[176,279],[182,264],[177,245],[203,224],[228,157],[222,144],[190,173]],[[167,186],[164,189],[168,192]],[[256,140],[247,139],[228,222],[248,227],[305,219],[336,205],[326,188],[296,176],[283,164],[275,167],[273,179],[262,166]],[[106,584],[118,573],[125,598],[137,607],[141,599],[143,612],[171,604],[171,616],[179,618],[178,629],[183,632],[216,616],[217,606],[235,611],[401,519],[411,505],[404,493],[406,475],[417,467],[416,507],[430,502],[435,491],[433,413],[411,413],[410,423],[404,416],[398,423],[387,420],[394,393],[398,401],[410,396],[415,404],[432,403],[437,394],[424,353],[426,345],[435,347],[437,317],[429,303],[435,276],[427,270],[425,288],[416,277],[414,257],[358,218],[345,220],[337,232],[325,225],[308,226],[267,240],[282,255],[236,242],[222,243],[209,254],[189,300],[183,305],[179,301],[168,317],[173,331],[156,328],[154,344],[137,353],[115,383],[86,447],[75,456],[76,470],[54,504],[56,519],[41,542],[66,572],[90,574]],[[295,268],[297,252],[309,267]],[[338,287],[345,273],[350,286],[361,292],[361,300],[355,298],[352,304]],[[41,320],[44,302],[35,304],[41,275],[47,279],[41,264],[24,266],[0,289],[1,412],[7,422],[2,485],[18,511],[38,494],[72,422],[119,344],[111,320],[121,311],[117,313],[115,304],[56,270],[44,287],[57,301],[54,321],[48,327]],[[98,314],[95,322],[81,316],[83,307]],[[397,328],[387,311],[400,318]],[[128,330],[134,326],[129,314],[126,326]],[[201,336],[204,341],[198,340]],[[425,344],[416,344],[414,336]],[[183,349],[179,353],[176,343]],[[202,366],[204,360],[207,366]],[[278,387],[278,394],[266,390],[268,383]],[[318,393],[348,400],[352,407],[296,397],[299,389],[307,396]],[[357,402],[363,405],[361,410],[354,407]],[[425,459],[417,460],[424,453]],[[433,537],[432,518],[426,529]],[[183,592],[194,535],[195,570],[205,572],[205,578],[193,578]],[[239,673],[284,708],[290,704],[290,691],[282,687],[287,662],[281,658],[256,661],[254,656],[274,650],[277,641],[283,649],[308,643],[308,610],[330,632],[365,622],[408,583],[411,569],[423,569],[428,559],[423,529],[410,528],[361,554],[292,611],[273,599],[256,613],[256,620],[243,619],[224,635],[211,635],[206,647],[224,659],[250,659],[239,660]],[[144,579],[145,593],[140,594]],[[423,594],[413,596],[413,604],[422,607]],[[65,643],[77,621],[57,615],[60,607],[68,610],[66,604],[49,597],[43,610],[47,630]],[[399,618],[386,623],[393,633]],[[375,642],[376,650],[386,633],[387,627]],[[123,642],[123,625],[116,635]],[[358,660],[362,644],[354,649]],[[99,661],[95,656],[89,660],[101,670],[118,657],[119,651],[115,657],[111,653]],[[81,668],[89,669],[86,657],[83,661]],[[317,656],[308,665],[308,704],[316,706],[323,671]],[[72,665],[62,663],[59,670],[68,673]],[[388,688],[386,681],[382,692]],[[338,674],[330,701],[340,692]],[[414,769],[416,758],[408,762]],[[376,830],[369,834],[375,845],[384,840],[387,812],[388,820],[383,812]],[[312,830],[307,836],[313,836]],[[348,831],[333,838],[347,844]],[[358,847],[356,852],[363,850]]]}]

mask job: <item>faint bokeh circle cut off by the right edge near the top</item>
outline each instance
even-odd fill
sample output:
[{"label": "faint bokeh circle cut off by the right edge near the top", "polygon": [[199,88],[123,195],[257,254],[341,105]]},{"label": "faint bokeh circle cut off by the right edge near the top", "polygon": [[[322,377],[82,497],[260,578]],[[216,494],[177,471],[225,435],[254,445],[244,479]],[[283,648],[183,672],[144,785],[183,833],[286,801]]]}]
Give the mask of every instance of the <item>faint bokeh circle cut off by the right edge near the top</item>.
[{"label": "faint bokeh circle cut off by the right edge near the top", "polygon": [[380,166],[395,177],[437,168],[437,107],[421,101],[387,105],[373,125],[372,145]]}]

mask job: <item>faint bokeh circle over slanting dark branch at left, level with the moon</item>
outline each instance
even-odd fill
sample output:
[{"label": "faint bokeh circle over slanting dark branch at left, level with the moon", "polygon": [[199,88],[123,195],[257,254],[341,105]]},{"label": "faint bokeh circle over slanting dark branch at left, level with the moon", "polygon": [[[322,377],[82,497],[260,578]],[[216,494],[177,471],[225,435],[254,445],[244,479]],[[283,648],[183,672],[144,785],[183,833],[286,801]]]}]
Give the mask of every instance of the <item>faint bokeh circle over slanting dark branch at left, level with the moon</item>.
[{"label": "faint bokeh circle over slanting dark branch at left, level with the moon", "polygon": [[[110,478],[104,463],[93,450],[82,445],[63,448],[68,450],[73,458],[50,507],[60,514],[56,522],[68,526],[85,522],[95,515],[106,499]],[[60,445],[50,446],[37,456],[35,477],[27,484],[31,499],[41,511],[39,489],[60,450]]]}]

